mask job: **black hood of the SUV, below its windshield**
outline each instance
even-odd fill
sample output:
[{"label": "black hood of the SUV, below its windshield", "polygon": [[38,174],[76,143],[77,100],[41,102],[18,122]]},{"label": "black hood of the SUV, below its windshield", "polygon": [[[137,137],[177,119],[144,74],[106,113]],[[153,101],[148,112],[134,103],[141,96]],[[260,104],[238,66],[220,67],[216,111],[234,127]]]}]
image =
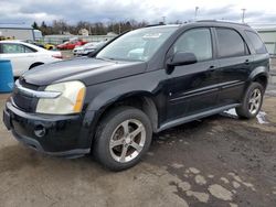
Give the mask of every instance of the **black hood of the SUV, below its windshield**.
[{"label": "black hood of the SUV, below its windshield", "polygon": [[144,73],[144,62],[117,62],[82,57],[38,66],[23,74],[29,84],[50,84],[81,80],[86,86]]}]

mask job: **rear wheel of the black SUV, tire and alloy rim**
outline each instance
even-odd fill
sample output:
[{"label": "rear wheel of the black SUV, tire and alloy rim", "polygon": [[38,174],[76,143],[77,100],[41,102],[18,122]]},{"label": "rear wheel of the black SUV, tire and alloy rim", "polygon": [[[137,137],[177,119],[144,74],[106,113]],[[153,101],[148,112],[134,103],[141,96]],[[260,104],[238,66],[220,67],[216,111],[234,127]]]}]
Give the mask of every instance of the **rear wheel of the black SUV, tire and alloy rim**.
[{"label": "rear wheel of the black SUV, tire and alloy rim", "polygon": [[264,86],[259,83],[252,83],[247,88],[242,105],[236,108],[238,117],[244,119],[252,119],[259,112],[263,98],[264,98]]}]

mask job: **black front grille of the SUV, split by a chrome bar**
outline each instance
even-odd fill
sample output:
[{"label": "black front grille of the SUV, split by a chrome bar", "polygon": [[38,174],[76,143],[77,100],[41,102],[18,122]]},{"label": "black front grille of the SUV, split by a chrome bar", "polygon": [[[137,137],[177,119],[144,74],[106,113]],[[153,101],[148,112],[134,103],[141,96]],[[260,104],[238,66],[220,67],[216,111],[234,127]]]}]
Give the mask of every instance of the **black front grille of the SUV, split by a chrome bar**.
[{"label": "black front grille of the SUV, split by a chrome bar", "polygon": [[15,105],[15,107],[20,108],[22,111],[34,112],[38,98],[28,97],[23,95],[22,92],[20,92],[20,90],[17,90],[17,85],[21,85],[22,87],[29,88],[32,90],[38,90],[39,86],[28,84],[24,79],[19,79],[17,81],[18,83],[15,83],[15,88],[12,94],[13,103]]}]

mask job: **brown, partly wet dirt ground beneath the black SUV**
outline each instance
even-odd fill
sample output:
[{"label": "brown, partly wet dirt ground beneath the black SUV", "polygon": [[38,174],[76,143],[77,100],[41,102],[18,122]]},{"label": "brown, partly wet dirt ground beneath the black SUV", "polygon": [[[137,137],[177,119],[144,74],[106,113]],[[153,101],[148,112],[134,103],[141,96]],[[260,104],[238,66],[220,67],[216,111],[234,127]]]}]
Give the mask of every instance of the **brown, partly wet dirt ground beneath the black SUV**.
[{"label": "brown, partly wet dirt ground beneath the black SUV", "polygon": [[[270,85],[265,117],[247,121],[222,113],[167,130],[153,137],[141,163],[120,173],[91,156],[36,153],[0,121],[0,206],[274,207],[275,91]],[[0,95],[0,111],[7,97]]]}]

